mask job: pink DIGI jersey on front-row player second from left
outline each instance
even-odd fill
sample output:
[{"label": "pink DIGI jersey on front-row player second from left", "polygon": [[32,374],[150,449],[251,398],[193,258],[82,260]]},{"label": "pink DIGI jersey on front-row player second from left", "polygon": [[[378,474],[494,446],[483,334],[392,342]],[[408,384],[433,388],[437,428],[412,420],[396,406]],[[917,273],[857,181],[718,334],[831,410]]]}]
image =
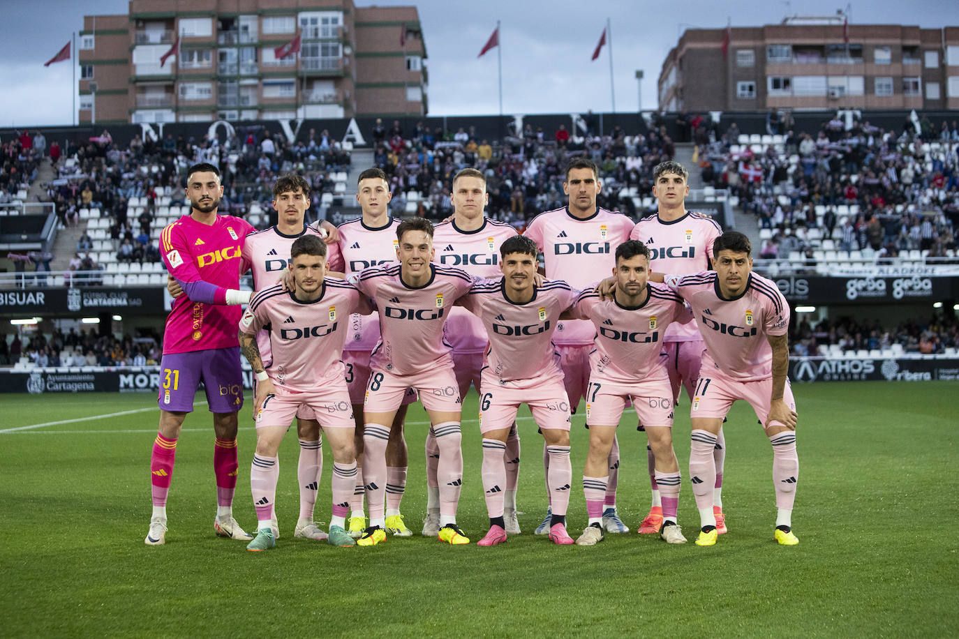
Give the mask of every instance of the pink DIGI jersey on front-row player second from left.
[{"label": "pink DIGI jersey on front-row player second from left", "polygon": [[357,287],[376,302],[382,336],[370,367],[396,375],[416,375],[453,366],[452,347],[443,341],[449,309],[473,285],[465,271],[430,264],[429,284],[411,288],[400,279],[400,264],[371,266]]}]

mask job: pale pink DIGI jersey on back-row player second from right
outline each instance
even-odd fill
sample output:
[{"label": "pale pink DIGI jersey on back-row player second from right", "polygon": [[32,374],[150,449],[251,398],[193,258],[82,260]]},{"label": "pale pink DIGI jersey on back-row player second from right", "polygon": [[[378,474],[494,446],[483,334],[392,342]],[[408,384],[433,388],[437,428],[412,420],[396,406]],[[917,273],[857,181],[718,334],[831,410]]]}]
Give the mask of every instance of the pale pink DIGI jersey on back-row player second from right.
[{"label": "pale pink DIGI jersey on back-row player second from right", "polygon": [[[543,251],[546,276],[577,288],[587,288],[613,272],[616,247],[629,240],[633,220],[621,213],[596,209],[586,219],[570,214],[567,207],[533,217],[523,234]],[[556,344],[585,346],[593,343],[594,327],[583,320],[560,322]]]}]

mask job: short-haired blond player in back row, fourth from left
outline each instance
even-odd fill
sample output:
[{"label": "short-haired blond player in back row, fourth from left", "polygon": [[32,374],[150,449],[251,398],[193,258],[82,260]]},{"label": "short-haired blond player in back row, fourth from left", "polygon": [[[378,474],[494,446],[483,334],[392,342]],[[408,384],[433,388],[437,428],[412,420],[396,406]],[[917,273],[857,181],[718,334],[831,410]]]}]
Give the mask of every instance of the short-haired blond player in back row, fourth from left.
[{"label": "short-haired blond player in back row, fourth from left", "polygon": [[[444,266],[456,266],[474,277],[489,278],[501,274],[500,246],[503,240],[516,237],[516,229],[483,215],[489,203],[486,178],[476,169],[463,169],[453,178],[453,219],[437,224],[433,229],[436,257]],[[555,325],[555,322],[553,322]],[[444,328],[444,338],[453,347],[453,365],[459,397],[465,398],[472,383],[479,392],[479,372],[488,338],[486,329],[476,315],[465,308],[450,309],[450,319]],[[436,462],[439,449],[433,433],[426,440],[426,476],[429,497],[427,517],[423,522],[423,536],[439,533],[439,485],[436,482]],[[520,534],[516,515],[516,486],[520,473],[520,437],[515,425],[506,438],[505,531]]]}]

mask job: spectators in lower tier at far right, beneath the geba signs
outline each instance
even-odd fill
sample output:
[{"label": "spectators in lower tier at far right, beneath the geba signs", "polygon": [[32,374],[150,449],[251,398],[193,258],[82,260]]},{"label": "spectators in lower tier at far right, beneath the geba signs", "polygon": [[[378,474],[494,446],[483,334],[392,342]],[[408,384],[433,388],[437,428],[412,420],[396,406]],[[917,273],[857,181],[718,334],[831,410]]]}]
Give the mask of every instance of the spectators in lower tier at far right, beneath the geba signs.
[{"label": "spectators in lower tier at far right, beneath the geba signs", "polygon": [[937,312],[927,320],[908,319],[895,329],[882,327],[877,319],[841,317],[815,326],[803,318],[790,330],[792,354],[814,355],[821,347],[837,345],[842,353],[894,349],[905,354],[943,354],[959,348],[959,322],[951,312]]}]

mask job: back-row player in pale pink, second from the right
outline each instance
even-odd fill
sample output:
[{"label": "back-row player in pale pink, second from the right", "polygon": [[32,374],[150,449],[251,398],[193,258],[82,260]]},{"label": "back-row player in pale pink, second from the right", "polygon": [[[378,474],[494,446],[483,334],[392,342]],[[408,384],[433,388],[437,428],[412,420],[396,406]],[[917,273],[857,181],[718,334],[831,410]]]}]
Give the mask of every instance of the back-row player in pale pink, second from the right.
[{"label": "back-row player in pale pink, second from the right", "polygon": [[[620,213],[596,206],[596,195],[602,190],[596,164],[585,158],[573,160],[566,169],[563,191],[569,197],[567,206],[534,217],[524,235],[543,251],[546,276],[563,280],[576,288],[586,288],[606,277],[616,266],[612,246],[629,240],[633,220]],[[560,322],[553,335],[566,380],[566,393],[575,412],[579,400],[586,397],[590,377],[589,354],[593,350],[595,327],[585,320]],[[549,455],[544,451],[544,466]],[[603,502],[603,527],[610,533],[628,533],[616,511],[616,489],[619,483],[620,445],[614,437],[609,457],[609,484]],[[547,470],[549,475],[549,469]],[[536,529],[546,535],[550,529],[551,511]]]}]

